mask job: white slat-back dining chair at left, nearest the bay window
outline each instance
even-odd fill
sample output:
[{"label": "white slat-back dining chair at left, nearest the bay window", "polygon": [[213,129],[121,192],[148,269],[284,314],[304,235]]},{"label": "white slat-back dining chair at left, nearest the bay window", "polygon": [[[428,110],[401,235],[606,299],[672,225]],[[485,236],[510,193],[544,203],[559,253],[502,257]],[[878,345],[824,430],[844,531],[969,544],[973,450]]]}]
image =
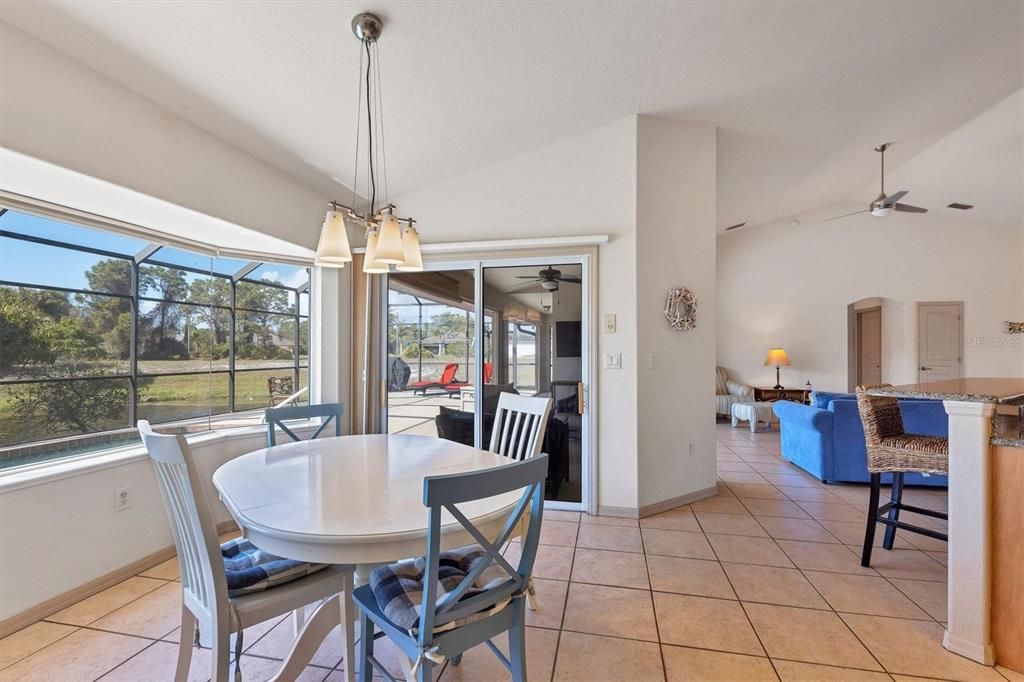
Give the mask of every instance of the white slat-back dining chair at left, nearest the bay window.
[{"label": "white slat-back dining chair at left, nearest the bay window", "polygon": [[[262,592],[229,596],[213,512],[188,443],[181,435],[156,433],[144,420],[138,422],[138,430],[153,461],[181,572],[181,634],[174,679],[187,680],[195,639],[195,643],[213,649],[213,682],[226,682],[233,635],[234,677],[241,680],[239,658],[246,628],[325,599],[338,604],[337,621],[332,613],[328,626],[343,625],[345,665],[350,668],[354,660],[351,594],[355,567],[332,565]],[[306,627],[325,626],[309,622]]]}]

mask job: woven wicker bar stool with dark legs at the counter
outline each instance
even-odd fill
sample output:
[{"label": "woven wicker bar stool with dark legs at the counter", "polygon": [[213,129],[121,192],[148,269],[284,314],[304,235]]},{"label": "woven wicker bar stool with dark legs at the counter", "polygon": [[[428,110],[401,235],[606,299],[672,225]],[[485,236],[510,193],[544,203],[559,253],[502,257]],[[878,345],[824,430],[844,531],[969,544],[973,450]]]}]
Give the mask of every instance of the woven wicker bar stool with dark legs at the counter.
[{"label": "woven wicker bar stool with dark legs at the counter", "polygon": [[[857,410],[864,426],[864,440],[867,445],[867,471],[871,474],[870,501],[867,508],[867,529],[864,532],[864,550],[860,565],[871,563],[871,547],[874,544],[874,526],[886,526],[882,546],[891,550],[896,540],[896,528],[903,528],[936,540],[948,542],[944,532],[912,525],[899,520],[901,511],[913,512],[932,518],[946,519],[948,516],[933,509],[924,509],[903,504],[903,474],[916,471],[929,474],[945,474],[949,471],[949,440],[942,436],[914,435],[903,430],[903,417],[896,398],[868,395],[871,388],[889,386],[857,386]],[[889,502],[879,506],[882,494],[882,474],[893,475],[892,494]]]}]

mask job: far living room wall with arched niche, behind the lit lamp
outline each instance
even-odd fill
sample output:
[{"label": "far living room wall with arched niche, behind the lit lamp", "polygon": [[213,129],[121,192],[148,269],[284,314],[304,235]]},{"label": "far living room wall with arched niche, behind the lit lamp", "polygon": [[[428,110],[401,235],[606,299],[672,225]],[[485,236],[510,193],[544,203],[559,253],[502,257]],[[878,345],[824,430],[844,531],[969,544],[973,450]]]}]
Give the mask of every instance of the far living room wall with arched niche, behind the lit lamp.
[{"label": "far living room wall with arched niche, behind the lit lamp", "polygon": [[[821,215],[849,209],[837,207]],[[1024,375],[1024,338],[1005,321],[1024,311],[1024,229],[895,213],[804,219],[718,240],[718,361],[739,380],[775,383],[763,367],[781,346],[782,384],[847,389],[847,306],[881,297],[883,380],[916,381],[916,303],[964,302],[965,376]],[[787,222],[787,221],[786,221]]]}]

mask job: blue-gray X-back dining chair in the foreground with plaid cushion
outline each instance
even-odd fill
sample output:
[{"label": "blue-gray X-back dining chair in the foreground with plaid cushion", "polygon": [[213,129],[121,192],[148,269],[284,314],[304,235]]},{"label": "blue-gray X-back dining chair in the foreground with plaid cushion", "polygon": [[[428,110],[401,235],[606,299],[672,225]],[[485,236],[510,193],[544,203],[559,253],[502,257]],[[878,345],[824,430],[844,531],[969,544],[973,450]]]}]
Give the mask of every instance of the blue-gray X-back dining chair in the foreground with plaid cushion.
[{"label": "blue-gray X-back dining chair in the foreground with plaid cushion", "polygon": [[[353,594],[359,610],[360,682],[370,682],[375,670],[385,679],[394,679],[374,657],[374,640],[378,637],[388,637],[415,662],[409,673],[418,682],[433,680],[435,666],[445,659],[458,665],[464,651],[479,644],[487,645],[511,672],[514,682],[525,681],[524,606],[541,539],[547,475],[548,456],[538,455],[483,471],[424,479],[423,504],[427,507],[429,518],[425,557],[374,569],[370,584],[356,588]],[[458,507],[463,503],[518,489],[523,491],[522,495],[493,542]],[[452,522],[449,515],[476,541],[478,547],[443,553],[445,563],[442,569],[441,528]],[[520,538],[522,550],[518,565],[513,566],[502,556],[500,548],[524,520],[526,531]],[[466,567],[461,581],[452,576],[453,556],[477,557]],[[409,573],[410,566],[422,568],[418,580]],[[482,580],[485,571],[488,571],[486,586],[480,589],[477,581]],[[490,571],[498,571],[498,577],[492,577]],[[442,593],[438,592],[439,588]],[[467,594],[470,590],[472,592]],[[379,595],[387,600],[384,607],[378,602]],[[391,600],[391,597],[394,599]],[[410,597],[419,598],[419,605],[415,606]],[[416,610],[412,611],[414,607]],[[392,616],[399,615],[404,616],[399,619],[401,623],[392,620]],[[375,634],[377,630],[380,630],[379,634]],[[507,657],[490,641],[504,632],[509,638]]]}]

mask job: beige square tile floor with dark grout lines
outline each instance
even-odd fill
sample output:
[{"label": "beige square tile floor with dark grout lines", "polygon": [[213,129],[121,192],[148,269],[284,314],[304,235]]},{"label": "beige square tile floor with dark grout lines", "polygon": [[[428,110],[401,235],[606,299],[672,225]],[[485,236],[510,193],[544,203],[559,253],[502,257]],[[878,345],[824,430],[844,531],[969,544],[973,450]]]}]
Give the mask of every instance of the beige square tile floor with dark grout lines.
[{"label": "beige square tile floor with dark grout lines", "polygon": [[[941,543],[901,535],[861,568],[864,486],[803,474],[779,459],[777,432],[717,434],[716,498],[639,522],[546,514],[530,680],[1022,679],[942,648]],[[0,640],[0,681],[170,680],[178,599],[174,560],[143,571]],[[245,679],[270,677],[290,639],[288,620],[247,631]],[[301,679],[338,681],[344,666],[336,631]],[[191,679],[208,670],[198,652]],[[507,679],[483,647],[439,677]]]}]

